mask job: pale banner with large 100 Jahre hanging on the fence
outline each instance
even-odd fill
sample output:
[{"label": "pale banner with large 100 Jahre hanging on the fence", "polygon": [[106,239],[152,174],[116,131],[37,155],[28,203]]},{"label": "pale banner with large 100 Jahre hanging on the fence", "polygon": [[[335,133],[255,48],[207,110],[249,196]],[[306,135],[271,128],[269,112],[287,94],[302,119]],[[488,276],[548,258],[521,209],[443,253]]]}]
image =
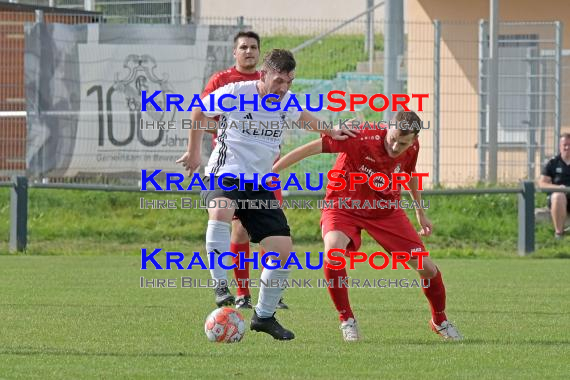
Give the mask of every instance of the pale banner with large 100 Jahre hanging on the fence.
[{"label": "pale banner with large 100 Jahre hanging on the fence", "polygon": [[[214,71],[231,64],[233,28],[58,24],[43,28],[47,33],[29,33],[26,41],[29,174],[181,171],[175,161],[187,147],[188,131],[181,130],[179,123],[172,130],[141,130],[139,122],[141,117],[169,121],[190,115],[141,113],[141,91],[177,93],[186,99],[200,93]],[[141,30],[144,36],[136,34]],[[32,55],[34,38],[44,46],[40,59]],[[51,47],[47,54],[45,42]],[[164,106],[164,96],[156,99]]]}]

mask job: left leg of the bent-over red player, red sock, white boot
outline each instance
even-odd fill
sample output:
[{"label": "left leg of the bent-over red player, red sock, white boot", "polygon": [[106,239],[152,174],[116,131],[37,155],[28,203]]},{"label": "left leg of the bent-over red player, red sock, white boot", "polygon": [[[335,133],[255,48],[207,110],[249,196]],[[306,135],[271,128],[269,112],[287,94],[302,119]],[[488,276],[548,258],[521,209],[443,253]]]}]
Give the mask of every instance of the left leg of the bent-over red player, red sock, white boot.
[{"label": "left leg of the bent-over red player, red sock, white boot", "polygon": [[[325,263],[338,264],[336,261],[331,261],[326,255],[331,249],[346,249],[350,243],[350,238],[341,231],[329,231],[325,237]],[[341,255],[341,253],[332,252],[333,256]],[[340,329],[342,336],[347,342],[356,342],[362,339],[358,324],[348,299],[348,289],[341,285],[341,279],[347,277],[346,269],[331,269],[324,267],[324,274],[326,280],[330,283],[332,280],[332,287],[328,287],[329,295],[339,313]]]}]

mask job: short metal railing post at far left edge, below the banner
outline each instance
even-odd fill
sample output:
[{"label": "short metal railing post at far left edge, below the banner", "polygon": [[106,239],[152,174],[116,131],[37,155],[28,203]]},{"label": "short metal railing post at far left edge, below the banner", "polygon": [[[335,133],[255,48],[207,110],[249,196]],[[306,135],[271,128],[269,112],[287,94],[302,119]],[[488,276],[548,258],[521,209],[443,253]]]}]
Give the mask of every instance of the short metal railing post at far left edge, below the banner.
[{"label": "short metal railing post at far left edge, below the banner", "polygon": [[28,178],[14,177],[10,191],[10,252],[26,249],[28,241]]}]

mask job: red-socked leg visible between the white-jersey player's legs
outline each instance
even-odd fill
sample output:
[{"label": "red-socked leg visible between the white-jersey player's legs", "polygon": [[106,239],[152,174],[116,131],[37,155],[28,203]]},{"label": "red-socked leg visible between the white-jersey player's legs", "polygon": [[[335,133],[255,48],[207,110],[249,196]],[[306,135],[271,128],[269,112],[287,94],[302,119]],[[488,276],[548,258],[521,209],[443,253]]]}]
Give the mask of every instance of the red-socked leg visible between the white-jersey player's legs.
[{"label": "red-socked leg visible between the white-jersey player's legs", "polygon": [[230,251],[235,253],[237,257],[232,259],[232,263],[236,265],[234,268],[234,277],[238,283],[236,290],[236,308],[251,309],[251,294],[249,292],[249,263],[244,263],[244,268],[240,269],[239,252],[244,253],[244,257],[249,258],[249,234],[239,221],[232,220],[232,238]]}]

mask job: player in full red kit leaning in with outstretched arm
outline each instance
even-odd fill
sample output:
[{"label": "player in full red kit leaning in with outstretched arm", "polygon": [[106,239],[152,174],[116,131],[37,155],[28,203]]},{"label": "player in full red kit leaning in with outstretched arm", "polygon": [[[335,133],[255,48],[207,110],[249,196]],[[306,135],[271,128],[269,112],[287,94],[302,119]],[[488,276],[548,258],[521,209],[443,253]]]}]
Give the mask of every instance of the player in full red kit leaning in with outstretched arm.
[{"label": "player in full red kit leaning in with outstretched arm", "polygon": [[[399,111],[395,116],[398,125],[408,125],[407,129],[365,129],[355,139],[334,141],[329,137],[310,142],[293,150],[281,158],[274,166],[273,171],[278,172],[305,157],[319,153],[340,153],[333,169],[345,170],[346,173],[364,173],[370,177],[373,173],[382,172],[391,178],[392,173],[415,172],[416,161],[419,153],[418,133],[421,120],[412,111]],[[412,128],[417,126],[417,128]],[[348,183],[348,175],[345,178]],[[378,177],[379,182],[383,182]],[[383,183],[376,183],[380,187]],[[365,200],[397,201],[400,199],[400,191],[391,190],[391,186],[384,191],[375,191],[367,183],[356,185],[356,191],[349,191],[348,186],[344,190],[333,191],[327,189],[326,201],[333,201],[334,207],[323,209],[321,215],[321,230],[325,243],[325,252],[331,249],[357,251],[360,248],[362,230],[366,230],[374,240],[384,249],[391,253],[405,251],[408,253],[425,251],[424,245],[408,219],[406,213],[400,208],[390,209],[348,209],[338,208],[339,198],[352,198],[364,204]],[[418,180],[414,177],[408,184],[412,198],[420,203],[421,195],[418,191]],[[372,202],[370,202],[372,203]],[[383,203],[383,204],[387,204]],[[426,218],[423,209],[416,210],[416,217],[421,226],[420,235],[429,236],[432,224]],[[339,253],[340,254],[340,253]],[[327,262],[331,262],[325,256]],[[338,264],[338,262],[332,262]],[[410,267],[418,271],[422,279],[430,279],[429,286],[423,288],[423,292],[431,307],[432,319],[430,327],[443,338],[460,340],[461,335],[457,328],[447,320],[445,315],[445,287],[441,278],[441,272],[429,257],[423,258],[422,270],[417,269],[417,258],[408,262]],[[334,280],[333,287],[328,291],[341,320],[341,330],[345,341],[357,341],[361,339],[356,318],[350,307],[348,289],[338,286],[341,278],[346,278],[346,269],[333,270],[324,268],[327,281]],[[427,281],[426,281],[427,285]]]}]

